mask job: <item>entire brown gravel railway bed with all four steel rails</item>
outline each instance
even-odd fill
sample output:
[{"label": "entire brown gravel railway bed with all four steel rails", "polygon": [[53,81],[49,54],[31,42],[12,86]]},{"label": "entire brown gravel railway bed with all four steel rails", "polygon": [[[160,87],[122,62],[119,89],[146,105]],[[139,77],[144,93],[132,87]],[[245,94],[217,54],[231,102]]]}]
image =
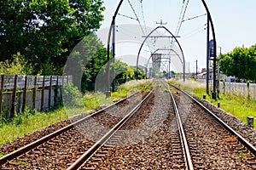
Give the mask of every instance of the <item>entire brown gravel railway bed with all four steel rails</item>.
[{"label": "entire brown gravel railway bed with all four steel rails", "polygon": [[145,99],[135,94],[84,117],[25,154],[2,157],[2,168],[255,169],[253,144],[180,90],[156,81]]}]

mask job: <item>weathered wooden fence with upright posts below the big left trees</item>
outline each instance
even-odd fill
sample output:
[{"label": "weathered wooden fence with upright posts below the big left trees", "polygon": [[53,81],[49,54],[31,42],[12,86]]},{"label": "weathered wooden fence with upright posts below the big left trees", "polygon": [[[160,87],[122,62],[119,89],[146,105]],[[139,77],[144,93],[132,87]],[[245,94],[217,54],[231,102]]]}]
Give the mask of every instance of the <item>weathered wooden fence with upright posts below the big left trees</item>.
[{"label": "weathered wooden fence with upright posts below the big left trees", "polygon": [[0,115],[9,119],[16,112],[49,110],[61,101],[63,85],[73,82],[70,76],[0,76]]}]

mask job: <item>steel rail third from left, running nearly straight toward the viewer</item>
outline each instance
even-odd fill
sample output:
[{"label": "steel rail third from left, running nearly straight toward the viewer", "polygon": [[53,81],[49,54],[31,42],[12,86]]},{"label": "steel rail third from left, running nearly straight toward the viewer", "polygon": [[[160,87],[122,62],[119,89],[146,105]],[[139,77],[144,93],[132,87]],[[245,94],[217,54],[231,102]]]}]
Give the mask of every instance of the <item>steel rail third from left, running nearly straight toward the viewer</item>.
[{"label": "steel rail third from left, running nearly straight toward the viewer", "polygon": [[[166,84],[165,84],[165,86],[166,86]],[[169,88],[169,87],[167,86],[167,88]],[[188,141],[187,141],[187,138],[185,135],[185,131],[183,128],[183,122],[181,120],[180,113],[177,109],[177,103],[176,103],[176,101],[172,95],[172,92],[170,90],[169,90],[169,94],[171,95],[171,98],[172,98],[173,108],[174,108],[176,118],[177,118],[177,127],[178,127],[178,130],[179,130],[182,142],[183,142],[183,149],[184,149],[183,151],[184,151],[184,156],[186,158],[187,168],[189,170],[194,170],[194,166],[193,166],[192,159],[190,156],[190,151],[189,151],[189,144],[188,144]]]}]

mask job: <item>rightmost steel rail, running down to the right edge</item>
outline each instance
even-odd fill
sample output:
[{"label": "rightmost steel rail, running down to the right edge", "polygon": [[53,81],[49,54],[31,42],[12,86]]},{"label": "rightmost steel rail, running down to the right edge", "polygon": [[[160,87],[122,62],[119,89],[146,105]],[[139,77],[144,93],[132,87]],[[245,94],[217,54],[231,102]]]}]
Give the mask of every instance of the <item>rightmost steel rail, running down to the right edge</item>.
[{"label": "rightmost steel rail, running down to the right edge", "polygon": [[183,94],[186,94],[190,99],[195,101],[195,103],[197,105],[200,105],[201,108],[203,108],[205,111],[207,111],[207,113],[209,113],[212,117],[214,117],[225,129],[227,129],[230,133],[236,135],[237,138],[239,139],[239,141],[241,142],[241,144],[244,144],[244,146],[246,146],[247,149],[250,150],[250,152],[253,153],[254,156],[256,156],[255,146],[253,146],[253,144],[251,144],[249,141],[247,141],[247,139],[243,138],[241,136],[241,134],[237,133],[236,130],[234,130],[232,127],[230,127],[224,121],[222,121],[218,116],[216,116],[214,113],[212,113],[212,111],[207,109],[206,106],[202,105],[199,101],[197,101],[195,98],[193,98],[189,93],[184,92],[181,88],[178,88],[177,86],[175,86],[173,84],[170,84],[170,85],[172,85],[173,88],[176,88],[177,90],[181,91]]}]

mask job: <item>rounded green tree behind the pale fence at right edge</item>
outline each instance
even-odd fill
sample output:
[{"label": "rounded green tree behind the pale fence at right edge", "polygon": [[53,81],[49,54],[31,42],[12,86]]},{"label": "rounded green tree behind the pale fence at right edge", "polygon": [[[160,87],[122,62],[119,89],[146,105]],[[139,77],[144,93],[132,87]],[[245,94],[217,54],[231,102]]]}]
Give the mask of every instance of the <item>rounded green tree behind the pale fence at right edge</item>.
[{"label": "rounded green tree behind the pale fence at right edge", "polygon": [[256,45],[250,48],[234,48],[228,54],[220,54],[220,71],[238,80],[256,80]]}]

